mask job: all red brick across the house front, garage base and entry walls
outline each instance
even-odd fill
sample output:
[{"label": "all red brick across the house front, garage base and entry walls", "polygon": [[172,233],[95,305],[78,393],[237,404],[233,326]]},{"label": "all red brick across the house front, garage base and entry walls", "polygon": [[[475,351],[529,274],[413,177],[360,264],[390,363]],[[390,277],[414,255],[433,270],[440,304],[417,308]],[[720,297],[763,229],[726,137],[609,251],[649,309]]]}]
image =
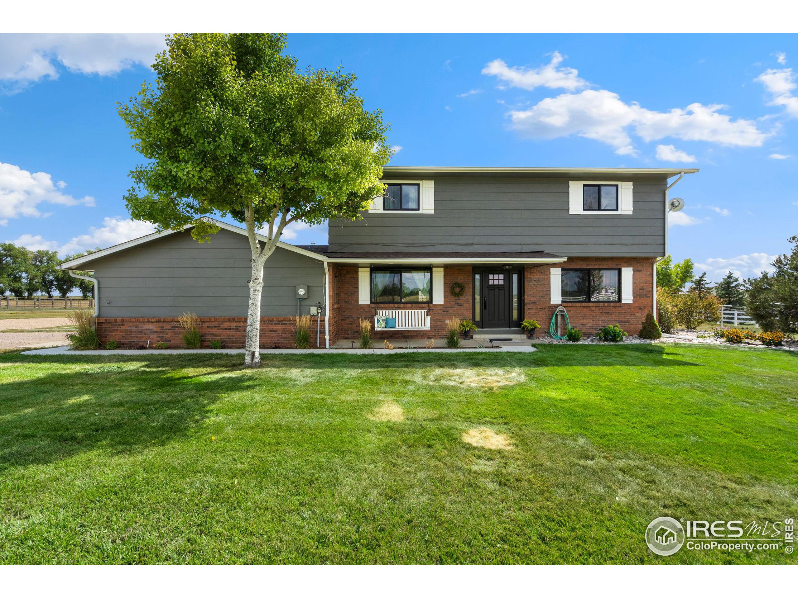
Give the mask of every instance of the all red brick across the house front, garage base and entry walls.
[{"label": "all red brick across the house front, garage base and entry walls", "polygon": [[[550,272],[552,267],[622,268],[634,269],[632,303],[565,303],[571,325],[586,334],[607,324],[618,324],[630,334],[640,331],[646,313],[654,304],[654,258],[568,258],[563,264],[526,266],[523,271],[523,316],[538,320],[541,332],[548,332],[551,316],[558,305],[551,303]],[[358,304],[358,266],[329,264],[330,270],[330,344],[339,339],[356,339],[360,334],[358,319],[373,319],[377,309],[413,309],[409,304]],[[452,296],[453,282],[464,285],[460,297]],[[440,338],[446,335],[446,321],[450,317],[471,318],[472,266],[444,266],[444,303],[420,304],[430,316],[430,330],[373,329],[374,340],[402,340],[405,338]],[[183,345],[183,331],[176,317],[159,318],[97,318],[101,342],[116,340],[121,348],[136,348],[164,341],[170,347]],[[227,348],[243,348],[246,339],[246,317],[200,317],[203,347],[211,340],[221,340]],[[311,347],[316,344],[316,317],[313,317]],[[291,317],[263,317],[260,327],[261,348],[293,347],[296,340]],[[321,345],[324,346],[324,317],[321,318]]]}]

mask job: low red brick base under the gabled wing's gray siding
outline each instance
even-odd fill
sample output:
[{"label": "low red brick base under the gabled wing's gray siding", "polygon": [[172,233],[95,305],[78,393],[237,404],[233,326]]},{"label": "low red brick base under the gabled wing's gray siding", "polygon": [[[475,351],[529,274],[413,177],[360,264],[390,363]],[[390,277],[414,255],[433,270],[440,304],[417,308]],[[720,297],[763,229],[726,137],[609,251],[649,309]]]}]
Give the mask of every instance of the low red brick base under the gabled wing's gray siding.
[{"label": "low red brick base under the gabled wing's gray siding", "polygon": [[[324,344],[324,317],[321,318],[320,344]],[[211,340],[221,340],[226,348],[243,348],[247,340],[246,317],[199,317],[202,346],[210,347]],[[150,347],[165,342],[170,348],[183,347],[183,329],[176,317],[98,317],[97,334],[101,343],[116,340],[120,348]],[[260,319],[261,348],[291,348],[296,342],[291,317],[262,317]],[[310,325],[310,346],[316,346],[316,317]]]}]

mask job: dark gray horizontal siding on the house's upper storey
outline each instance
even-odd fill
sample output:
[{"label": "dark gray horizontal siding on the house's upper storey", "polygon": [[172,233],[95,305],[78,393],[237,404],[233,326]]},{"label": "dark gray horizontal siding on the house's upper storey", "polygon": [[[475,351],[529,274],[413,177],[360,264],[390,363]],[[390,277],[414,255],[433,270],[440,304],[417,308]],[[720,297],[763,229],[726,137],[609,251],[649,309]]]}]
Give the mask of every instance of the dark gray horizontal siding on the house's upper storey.
[{"label": "dark gray horizontal siding on the house's upper storey", "polygon": [[[620,176],[620,178],[618,178]],[[564,256],[665,252],[664,175],[579,178],[386,175],[433,179],[434,214],[364,214],[330,222],[330,251],[548,251]],[[569,214],[569,180],[631,180],[633,214]]]}]

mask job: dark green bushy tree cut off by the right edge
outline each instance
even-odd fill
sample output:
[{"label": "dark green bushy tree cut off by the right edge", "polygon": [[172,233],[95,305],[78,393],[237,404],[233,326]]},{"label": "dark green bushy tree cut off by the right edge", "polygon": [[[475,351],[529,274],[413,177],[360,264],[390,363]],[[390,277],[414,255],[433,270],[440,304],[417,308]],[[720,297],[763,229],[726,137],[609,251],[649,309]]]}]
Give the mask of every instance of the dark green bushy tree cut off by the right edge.
[{"label": "dark green bushy tree cut off by the right edge", "polygon": [[789,240],[792,253],[773,260],[772,273],[745,281],[745,311],[765,332],[798,332],[798,235]]}]

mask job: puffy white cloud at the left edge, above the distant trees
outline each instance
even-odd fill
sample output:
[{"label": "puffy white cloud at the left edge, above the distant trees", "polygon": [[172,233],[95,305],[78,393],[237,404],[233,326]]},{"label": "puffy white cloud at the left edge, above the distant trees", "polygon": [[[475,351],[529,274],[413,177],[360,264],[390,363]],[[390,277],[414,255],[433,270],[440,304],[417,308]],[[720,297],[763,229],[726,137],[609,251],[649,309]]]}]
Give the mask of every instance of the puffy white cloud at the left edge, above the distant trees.
[{"label": "puffy white cloud at the left edge, above the distant trees", "polygon": [[94,198],[86,195],[75,199],[60,190],[66,187],[64,181],[53,183],[53,177],[46,172],[24,171],[14,164],[0,162],[0,218],[20,216],[41,217],[40,203],[56,203],[61,206],[93,206]]}]

